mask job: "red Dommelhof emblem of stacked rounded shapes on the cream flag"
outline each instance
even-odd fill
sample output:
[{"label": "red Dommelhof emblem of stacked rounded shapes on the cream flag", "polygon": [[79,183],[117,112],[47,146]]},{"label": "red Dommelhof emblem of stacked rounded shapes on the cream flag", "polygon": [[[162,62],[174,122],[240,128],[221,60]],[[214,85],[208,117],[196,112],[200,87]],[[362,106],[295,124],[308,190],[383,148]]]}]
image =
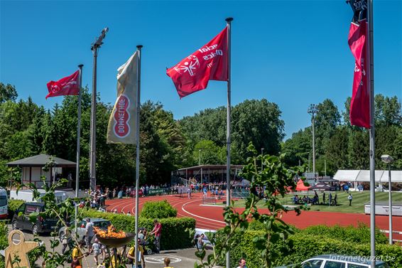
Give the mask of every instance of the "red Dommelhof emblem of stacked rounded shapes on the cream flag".
[{"label": "red Dommelhof emblem of stacked rounded shapes on the cream flag", "polygon": [[125,138],[131,132],[130,121],[130,100],[126,95],[121,95],[117,100],[116,112],[114,112],[114,134],[119,138]]}]

